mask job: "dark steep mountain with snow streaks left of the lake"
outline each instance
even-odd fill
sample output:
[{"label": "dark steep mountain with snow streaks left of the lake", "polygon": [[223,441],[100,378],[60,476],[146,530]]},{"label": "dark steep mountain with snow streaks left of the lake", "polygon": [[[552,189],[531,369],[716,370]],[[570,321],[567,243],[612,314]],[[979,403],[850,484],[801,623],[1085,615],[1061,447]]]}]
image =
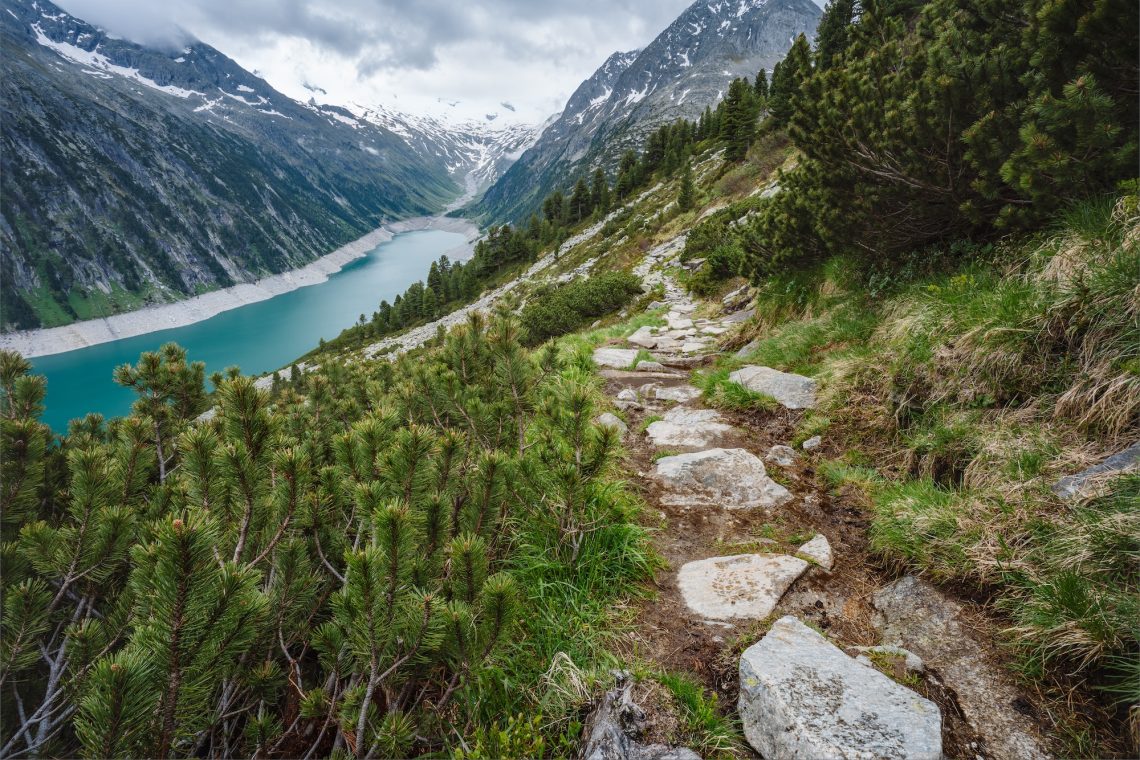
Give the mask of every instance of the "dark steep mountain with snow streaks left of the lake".
[{"label": "dark steep mountain with snow streaks left of the lake", "polygon": [[59,325],[303,265],[457,193],[378,123],[218,50],[115,39],[47,0],[0,13],[0,325]]}]

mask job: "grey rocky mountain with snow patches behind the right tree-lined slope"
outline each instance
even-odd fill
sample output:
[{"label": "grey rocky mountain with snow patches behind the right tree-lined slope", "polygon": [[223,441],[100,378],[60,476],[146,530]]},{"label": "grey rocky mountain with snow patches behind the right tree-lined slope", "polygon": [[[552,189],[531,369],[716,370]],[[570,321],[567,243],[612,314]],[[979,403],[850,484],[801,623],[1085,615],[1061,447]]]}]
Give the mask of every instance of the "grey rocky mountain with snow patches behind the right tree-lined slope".
[{"label": "grey rocky mountain with snow patches behind the right tree-lined slope", "polygon": [[611,166],[645,136],[715,106],[738,76],[772,71],[820,21],[812,0],[700,0],[640,51],[618,52],[581,83],[559,120],[472,207],[520,221],[555,187]]}]

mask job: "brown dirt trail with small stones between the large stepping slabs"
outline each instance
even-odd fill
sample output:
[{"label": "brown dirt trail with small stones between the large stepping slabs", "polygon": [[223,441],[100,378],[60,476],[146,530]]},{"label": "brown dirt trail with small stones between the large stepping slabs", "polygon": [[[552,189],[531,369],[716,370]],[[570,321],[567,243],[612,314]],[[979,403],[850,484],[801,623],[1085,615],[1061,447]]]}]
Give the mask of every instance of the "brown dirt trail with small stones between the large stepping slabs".
[{"label": "brown dirt trail with small stones between the large stepping slabs", "polygon": [[[660,246],[638,268],[638,273],[648,281],[666,286],[669,326],[656,332],[640,330],[632,336],[635,343],[604,346],[625,349],[627,353],[611,352],[606,356],[600,352],[595,354],[595,360],[600,363],[608,360],[611,365],[601,374],[605,377],[606,394],[622,411],[629,428],[625,443],[630,481],[649,506],[646,528],[652,531],[654,546],[667,562],[654,581],[657,597],[643,603],[637,612],[640,623],[630,637],[630,655],[660,670],[691,675],[716,692],[719,704],[732,712],[739,695],[741,652],[759,640],[774,620],[795,615],[817,628],[848,654],[855,655],[857,651],[853,647],[874,646],[883,641],[881,626],[877,628],[874,620],[874,595],[896,579],[878,566],[868,553],[868,522],[858,500],[854,495],[841,491],[829,492],[814,469],[817,457],[836,457],[841,452],[829,451],[826,444],[815,452],[798,450],[793,460],[784,465],[769,456],[772,447],[789,443],[800,411],[784,408],[750,412],[718,410],[718,422],[730,425],[731,431],[722,432],[709,441],[698,441],[697,446],[662,446],[654,442],[653,435],[646,434],[649,423],[662,416],[668,422],[674,409],[708,409],[699,397],[686,398],[694,394],[689,385],[687,367],[700,363],[701,360],[694,358],[700,354],[706,357],[705,363],[710,363],[716,354],[717,336],[739,321],[739,318],[728,314],[694,318],[699,304],[692,302],[660,269],[662,261],[676,255],[679,247],[675,243]],[[652,344],[657,337],[660,337],[660,343],[649,348],[654,348],[654,359],[667,366],[663,371],[659,367],[648,373],[620,367],[622,359]],[[686,389],[689,393],[684,392]],[[658,394],[666,399],[657,398]],[[669,397],[677,397],[681,401],[668,400]],[[769,508],[747,509],[718,504],[675,504],[676,499],[668,492],[670,487],[662,485],[660,476],[654,474],[658,460],[663,456],[708,451],[714,447],[744,449],[756,455],[764,460],[767,475],[790,491],[790,499]],[[771,614],[763,619],[708,619],[694,611],[678,582],[678,572],[687,563],[738,555],[784,555],[787,558],[795,556],[806,541],[820,534],[825,537],[831,548],[831,571],[817,564],[811,565],[783,593]],[[984,644],[976,648],[984,655],[979,665],[982,670],[991,668],[993,673],[986,671],[987,676],[1003,679],[996,664],[999,655],[985,648]],[[909,675],[901,662],[881,667],[896,680],[938,704],[945,757],[1026,757],[1016,743],[994,735],[1004,730],[1001,721],[995,724],[996,728],[988,726],[988,736],[971,725],[967,716],[971,714],[969,708],[972,703],[963,710],[953,685],[940,679],[936,670],[928,667],[927,676],[917,678]],[[1001,709],[1002,705],[999,705],[999,712]],[[1033,722],[1016,714],[1012,720]],[[1017,730],[1023,729],[1018,727]],[[1028,757],[1034,757],[1036,734],[1032,728],[1025,728],[1024,733],[1025,746],[1029,747]],[[744,747],[744,752],[750,750]]]}]

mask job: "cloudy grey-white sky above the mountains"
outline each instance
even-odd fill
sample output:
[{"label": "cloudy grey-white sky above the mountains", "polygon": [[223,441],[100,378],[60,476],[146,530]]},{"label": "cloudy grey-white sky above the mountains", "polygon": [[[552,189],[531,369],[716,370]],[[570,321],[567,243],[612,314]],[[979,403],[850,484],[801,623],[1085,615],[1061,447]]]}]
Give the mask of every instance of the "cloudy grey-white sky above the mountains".
[{"label": "cloudy grey-white sky above the mountains", "polygon": [[[119,36],[196,38],[307,100],[542,121],[692,0],[56,0]],[[502,103],[514,106],[512,113]],[[455,104],[455,105],[451,105]]]}]

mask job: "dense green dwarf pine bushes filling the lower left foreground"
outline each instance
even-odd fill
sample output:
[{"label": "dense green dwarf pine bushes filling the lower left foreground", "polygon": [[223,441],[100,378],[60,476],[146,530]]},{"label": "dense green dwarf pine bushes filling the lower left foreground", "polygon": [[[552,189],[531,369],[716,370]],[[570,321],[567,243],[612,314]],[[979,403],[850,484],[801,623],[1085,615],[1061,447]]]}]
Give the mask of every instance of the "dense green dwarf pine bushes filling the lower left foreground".
[{"label": "dense green dwarf pine bushes filling the lower left foreground", "polygon": [[520,548],[536,587],[593,572],[630,518],[593,390],[521,334],[472,317],[275,393],[215,376],[203,420],[202,366],[168,345],[116,373],[129,417],[57,440],[0,354],[0,754],[406,757],[490,730],[471,689],[516,656]]}]

